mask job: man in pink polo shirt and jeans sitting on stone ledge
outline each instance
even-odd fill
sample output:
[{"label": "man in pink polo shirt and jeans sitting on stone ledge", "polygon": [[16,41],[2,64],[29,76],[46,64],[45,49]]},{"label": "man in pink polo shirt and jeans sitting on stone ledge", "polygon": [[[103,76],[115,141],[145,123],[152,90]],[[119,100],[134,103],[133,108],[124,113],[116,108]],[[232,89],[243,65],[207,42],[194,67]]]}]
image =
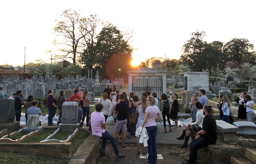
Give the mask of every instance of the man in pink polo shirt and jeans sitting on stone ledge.
[{"label": "man in pink polo shirt and jeans sitting on stone ledge", "polygon": [[105,117],[101,114],[101,111],[103,110],[103,105],[99,103],[96,105],[95,109],[96,111],[93,112],[91,115],[91,127],[92,127],[92,135],[102,137],[100,154],[102,156],[107,156],[107,154],[105,153],[105,150],[106,150],[107,140],[109,140],[112,144],[112,147],[114,149],[117,159],[124,158],[125,155],[121,155],[118,150],[116,139],[113,137],[113,135],[109,134],[109,132],[105,131],[105,128],[106,128]]}]

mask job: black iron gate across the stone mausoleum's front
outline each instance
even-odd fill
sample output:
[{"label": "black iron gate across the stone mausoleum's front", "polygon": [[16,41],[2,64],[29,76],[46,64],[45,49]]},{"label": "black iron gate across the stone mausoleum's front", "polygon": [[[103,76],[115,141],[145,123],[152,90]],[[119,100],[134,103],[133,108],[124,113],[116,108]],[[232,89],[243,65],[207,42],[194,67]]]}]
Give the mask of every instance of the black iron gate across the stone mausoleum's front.
[{"label": "black iron gate across the stone mausoleum's front", "polygon": [[160,95],[163,93],[163,79],[162,77],[133,77],[132,90],[137,92],[138,97],[141,97],[143,92],[156,92],[158,99],[158,107],[161,109]]}]

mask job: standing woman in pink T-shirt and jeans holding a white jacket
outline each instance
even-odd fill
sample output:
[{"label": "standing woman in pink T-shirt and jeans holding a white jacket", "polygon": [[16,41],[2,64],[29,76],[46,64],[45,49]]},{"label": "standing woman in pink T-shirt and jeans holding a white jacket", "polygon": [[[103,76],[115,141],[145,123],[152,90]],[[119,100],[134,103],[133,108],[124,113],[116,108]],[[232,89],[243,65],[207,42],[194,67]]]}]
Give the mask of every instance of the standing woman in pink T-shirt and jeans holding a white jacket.
[{"label": "standing woman in pink T-shirt and jeans holding a white jacket", "polygon": [[146,113],[145,113],[145,118],[142,123],[142,127],[145,126],[147,129],[147,133],[149,136],[148,139],[148,152],[149,152],[149,157],[146,163],[156,163],[156,131],[157,131],[157,125],[156,125],[156,115],[158,115],[158,119],[162,120],[160,110],[158,106],[155,106],[154,104],[156,103],[156,100],[153,96],[147,97],[146,101],[148,107],[146,108]]}]

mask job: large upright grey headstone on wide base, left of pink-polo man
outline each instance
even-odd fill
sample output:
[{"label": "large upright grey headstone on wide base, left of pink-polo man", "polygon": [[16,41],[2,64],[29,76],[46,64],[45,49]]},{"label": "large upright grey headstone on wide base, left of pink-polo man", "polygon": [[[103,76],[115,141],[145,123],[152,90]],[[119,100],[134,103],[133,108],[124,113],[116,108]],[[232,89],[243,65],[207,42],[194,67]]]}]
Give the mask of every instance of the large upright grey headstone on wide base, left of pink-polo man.
[{"label": "large upright grey headstone on wide base, left of pink-polo man", "polygon": [[62,131],[74,131],[76,128],[80,128],[78,102],[64,102],[62,104],[62,119],[58,127]]}]

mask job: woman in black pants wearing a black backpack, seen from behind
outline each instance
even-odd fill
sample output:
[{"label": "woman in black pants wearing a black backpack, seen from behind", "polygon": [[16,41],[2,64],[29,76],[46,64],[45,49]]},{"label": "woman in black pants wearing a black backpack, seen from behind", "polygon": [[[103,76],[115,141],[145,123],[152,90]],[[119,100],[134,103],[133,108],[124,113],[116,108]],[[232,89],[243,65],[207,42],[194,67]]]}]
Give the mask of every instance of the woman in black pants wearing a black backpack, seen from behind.
[{"label": "woman in black pants wearing a black backpack, seen from behind", "polygon": [[[164,122],[164,133],[167,133],[166,131],[166,117],[167,117],[167,121],[170,127],[170,132],[172,132],[172,126],[171,126],[171,121],[170,121],[170,102],[168,100],[168,97],[165,93],[162,93],[161,96],[161,105],[163,106],[163,110],[162,110],[162,115],[163,115],[163,122]],[[165,117],[166,116],[166,117]]]}]

